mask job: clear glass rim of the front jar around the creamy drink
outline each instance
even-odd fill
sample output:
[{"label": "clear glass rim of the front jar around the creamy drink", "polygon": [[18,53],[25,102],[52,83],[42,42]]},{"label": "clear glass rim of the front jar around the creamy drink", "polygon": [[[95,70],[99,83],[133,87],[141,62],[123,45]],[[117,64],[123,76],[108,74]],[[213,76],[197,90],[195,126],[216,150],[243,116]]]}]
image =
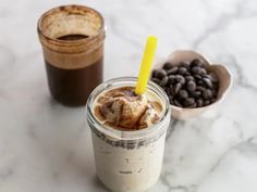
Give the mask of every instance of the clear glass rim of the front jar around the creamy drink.
[{"label": "clear glass rim of the front jar around the creamy drink", "polygon": [[[113,87],[113,85],[115,84],[132,82],[135,85],[136,81],[137,81],[137,77],[119,77],[119,78],[107,80],[94,89],[86,104],[87,121],[91,124],[89,125],[91,129],[96,129],[97,131],[100,131],[101,133],[114,140],[134,140],[134,139],[145,139],[146,137],[151,137],[156,132],[159,132],[166,128],[166,124],[170,121],[170,117],[171,117],[169,99],[168,99],[168,95],[164,93],[164,91],[161,89],[161,87],[159,87],[157,84],[155,84],[151,80],[149,80],[147,84],[148,89],[150,89],[155,94],[157,94],[163,103],[163,113],[158,123],[150,125],[149,127],[145,129],[130,131],[130,130],[118,130],[114,128],[105,127],[95,117],[91,106],[94,104],[95,99],[102,91],[105,91],[108,88],[111,89],[111,87]],[[118,86],[118,87],[123,87],[123,86]]]}]

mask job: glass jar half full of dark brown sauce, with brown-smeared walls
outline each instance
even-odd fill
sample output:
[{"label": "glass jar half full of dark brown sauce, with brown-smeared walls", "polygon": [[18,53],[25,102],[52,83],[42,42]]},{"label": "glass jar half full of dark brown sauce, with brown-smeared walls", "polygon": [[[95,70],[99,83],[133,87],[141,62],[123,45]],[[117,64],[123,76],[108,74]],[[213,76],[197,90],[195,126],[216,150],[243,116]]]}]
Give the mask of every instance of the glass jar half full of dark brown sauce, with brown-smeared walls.
[{"label": "glass jar half full of dark brown sauce, with brown-smeared walls", "polygon": [[101,14],[83,5],[58,7],[41,15],[37,29],[52,97],[69,106],[86,104],[102,81]]}]

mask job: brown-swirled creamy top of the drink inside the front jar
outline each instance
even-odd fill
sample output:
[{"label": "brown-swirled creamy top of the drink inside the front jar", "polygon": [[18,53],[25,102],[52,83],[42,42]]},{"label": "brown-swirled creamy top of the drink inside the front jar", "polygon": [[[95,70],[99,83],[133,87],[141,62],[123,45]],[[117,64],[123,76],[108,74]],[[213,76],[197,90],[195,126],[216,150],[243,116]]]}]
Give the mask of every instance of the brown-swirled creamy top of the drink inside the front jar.
[{"label": "brown-swirled creamy top of the drink inside the front jar", "polygon": [[163,110],[158,98],[152,92],[136,95],[134,91],[134,87],[105,91],[94,103],[94,115],[119,130],[138,130],[158,123]]}]

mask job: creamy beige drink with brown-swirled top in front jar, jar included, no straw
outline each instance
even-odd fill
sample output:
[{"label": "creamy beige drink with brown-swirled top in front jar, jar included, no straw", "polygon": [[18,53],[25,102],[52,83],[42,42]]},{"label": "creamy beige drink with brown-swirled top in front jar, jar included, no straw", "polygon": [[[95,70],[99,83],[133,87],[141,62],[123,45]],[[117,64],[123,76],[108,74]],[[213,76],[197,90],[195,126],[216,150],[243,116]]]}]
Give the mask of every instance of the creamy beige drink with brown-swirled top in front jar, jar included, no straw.
[{"label": "creamy beige drink with brown-swirled top in front jar, jar included, no straw", "polygon": [[105,82],[87,103],[97,176],[114,192],[147,191],[161,172],[168,99],[152,82],[136,95],[135,84],[135,78]]}]

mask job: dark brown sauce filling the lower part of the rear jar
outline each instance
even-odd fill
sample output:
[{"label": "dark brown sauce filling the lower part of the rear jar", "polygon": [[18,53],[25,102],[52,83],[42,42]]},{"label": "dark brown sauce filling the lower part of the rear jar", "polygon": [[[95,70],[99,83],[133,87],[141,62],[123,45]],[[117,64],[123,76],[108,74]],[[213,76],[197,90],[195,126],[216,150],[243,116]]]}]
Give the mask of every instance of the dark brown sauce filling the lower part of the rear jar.
[{"label": "dark brown sauce filling the lower part of the rear jar", "polygon": [[90,92],[102,81],[102,57],[78,69],[59,68],[46,61],[46,68],[53,98],[68,106],[85,105]]}]

